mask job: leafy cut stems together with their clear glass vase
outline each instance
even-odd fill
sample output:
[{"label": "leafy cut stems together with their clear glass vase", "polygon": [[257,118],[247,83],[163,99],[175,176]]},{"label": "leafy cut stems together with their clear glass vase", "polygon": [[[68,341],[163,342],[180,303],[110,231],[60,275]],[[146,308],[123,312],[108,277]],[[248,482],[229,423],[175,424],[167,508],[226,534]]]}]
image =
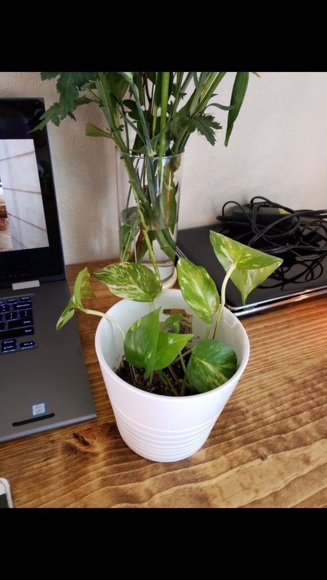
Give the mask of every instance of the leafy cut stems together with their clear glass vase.
[{"label": "leafy cut stems together with their clear glass vase", "polygon": [[217,101],[227,74],[232,73],[41,73],[45,81],[56,79],[59,99],[36,129],[74,119],[82,105],[100,107],[104,126],[87,123],[86,133],[116,145],[120,260],[150,264],[161,281],[174,273],[182,159],[189,137],[197,131],[214,145],[222,126],[213,111],[227,110],[227,146],[245,98],[249,73],[238,72],[230,102]]}]

